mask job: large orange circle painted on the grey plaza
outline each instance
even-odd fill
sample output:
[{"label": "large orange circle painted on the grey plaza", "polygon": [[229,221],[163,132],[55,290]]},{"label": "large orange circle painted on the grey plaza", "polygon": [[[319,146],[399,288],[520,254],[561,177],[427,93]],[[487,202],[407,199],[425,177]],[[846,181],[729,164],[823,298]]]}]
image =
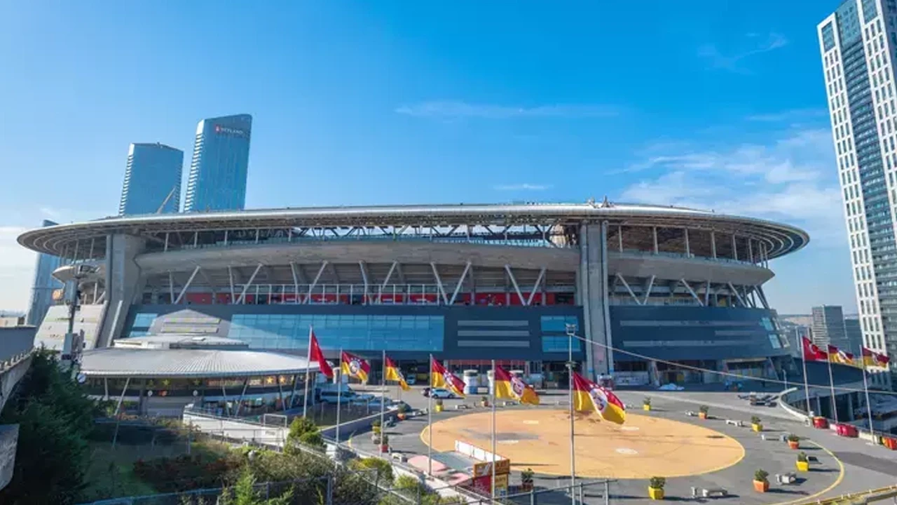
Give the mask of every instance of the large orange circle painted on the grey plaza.
[{"label": "large orange circle painted on the grey plaza", "polygon": [[[496,412],[496,452],[516,470],[570,474],[570,417],[559,410]],[[597,415],[577,416],[576,474],[582,477],[647,479],[706,474],[735,465],[745,447],[718,431],[686,422],[626,413],[623,426]],[[433,448],[452,451],[455,440],[489,450],[492,412],[433,423]],[[428,443],[428,429],[421,432]]]}]

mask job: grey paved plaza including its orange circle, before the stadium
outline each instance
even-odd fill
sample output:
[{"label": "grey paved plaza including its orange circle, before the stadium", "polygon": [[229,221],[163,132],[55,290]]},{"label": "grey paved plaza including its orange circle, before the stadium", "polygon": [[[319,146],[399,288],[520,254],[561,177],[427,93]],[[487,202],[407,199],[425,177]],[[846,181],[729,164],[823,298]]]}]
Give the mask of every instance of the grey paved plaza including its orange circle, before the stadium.
[{"label": "grey paved plaza including its orange circle, before the stadium", "polygon": [[[897,454],[864,440],[837,437],[830,430],[804,426],[778,408],[750,407],[736,394],[719,392],[618,392],[629,405],[623,426],[599,421],[595,416],[577,416],[576,464],[580,482],[587,483],[587,503],[604,503],[604,486],[588,485],[610,479],[611,503],[648,503],[648,478],[666,476],[666,496],[675,501],[692,501],[692,487],[725,489],[728,503],[798,504],[849,492],[866,491],[897,482]],[[652,398],[652,411],[640,410],[641,400]],[[415,408],[426,407],[426,398],[417,390],[404,394]],[[478,398],[478,397],[477,397]],[[519,483],[518,472],[532,468],[536,488],[551,490],[570,483],[570,418],[565,392],[543,394],[539,407],[499,407],[496,412],[497,453],[508,457]],[[455,410],[455,404],[469,408]],[[709,420],[685,414],[700,404],[710,407]],[[462,439],[478,447],[491,445],[491,412],[475,406],[474,399],[445,402],[444,412],[433,414],[434,459],[451,462],[454,440]],[[764,430],[750,429],[750,418],[762,418]],[[727,424],[740,420],[744,426]],[[797,482],[776,483],[776,474],[795,471],[797,451],[780,441],[787,433],[802,438],[801,450],[816,462],[808,473],[797,474]],[[425,468],[428,452],[426,416],[399,422],[388,430],[390,446],[413,458]],[[354,447],[374,451],[368,434],[354,434]],[[416,457],[415,457],[416,456]],[[438,467],[455,481],[451,469]],[[753,491],[753,473],[770,474],[767,493]],[[700,501],[707,501],[699,498]],[[528,500],[524,500],[529,502]],[[569,503],[563,492],[546,492],[538,503]]]}]

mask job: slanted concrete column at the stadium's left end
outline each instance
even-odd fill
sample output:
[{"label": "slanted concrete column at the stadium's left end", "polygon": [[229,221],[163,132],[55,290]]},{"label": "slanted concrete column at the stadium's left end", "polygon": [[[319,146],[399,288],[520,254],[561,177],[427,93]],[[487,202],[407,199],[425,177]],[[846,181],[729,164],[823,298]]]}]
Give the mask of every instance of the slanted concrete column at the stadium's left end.
[{"label": "slanted concrete column at the stadium's left end", "polygon": [[121,334],[128,310],[135,297],[141,295],[146,279],[134,261],[144,252],[146,240],[134,235],[106,237],[106,304],[100,322],[97,347],[107,347]]}]

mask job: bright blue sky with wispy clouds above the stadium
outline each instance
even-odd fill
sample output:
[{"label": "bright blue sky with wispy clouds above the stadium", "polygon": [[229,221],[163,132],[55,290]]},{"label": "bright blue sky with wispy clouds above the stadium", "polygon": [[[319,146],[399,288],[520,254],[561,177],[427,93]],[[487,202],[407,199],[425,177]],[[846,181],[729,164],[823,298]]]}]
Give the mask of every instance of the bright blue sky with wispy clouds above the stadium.
[{"label": "bright blue sky with wispy clouds above the stadium", "polygon": [[[248,207],[680,204],[783,220],[779,312],[853,312],[815,26],[837,2],[0,0],[0,308],[42,218],[118,209],[127,146],[254,116]],[[185,167],[185,175],[187,167]]]}]

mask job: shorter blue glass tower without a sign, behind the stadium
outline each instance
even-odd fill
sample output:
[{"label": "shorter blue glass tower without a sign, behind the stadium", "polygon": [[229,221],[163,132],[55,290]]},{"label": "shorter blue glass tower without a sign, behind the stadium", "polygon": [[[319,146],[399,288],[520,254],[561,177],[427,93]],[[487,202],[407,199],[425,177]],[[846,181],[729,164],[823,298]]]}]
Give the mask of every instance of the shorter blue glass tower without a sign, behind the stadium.
[{"label": "shorter blue glass tower without a sign, behind the stadium", "polygon": [[163,144],[131,144],[118,215],[178,212],[184,152]]}]

